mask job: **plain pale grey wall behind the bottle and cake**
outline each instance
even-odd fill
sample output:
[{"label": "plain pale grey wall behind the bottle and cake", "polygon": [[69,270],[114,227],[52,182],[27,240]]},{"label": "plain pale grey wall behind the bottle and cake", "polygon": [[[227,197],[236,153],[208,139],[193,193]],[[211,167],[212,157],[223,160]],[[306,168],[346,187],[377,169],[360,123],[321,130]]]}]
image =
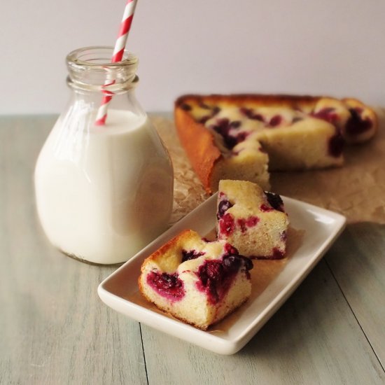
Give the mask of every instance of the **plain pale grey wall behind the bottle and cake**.
[{"label": "plain pale grey wall behind the bottle and cake", "polygon": [[[0,5],[0,114],[59,113],[64,58],[113,45],[125,0]],[[184,92],[351,96],[385,102],[383,0],[138,0],[127,48],[147,111]]]}]

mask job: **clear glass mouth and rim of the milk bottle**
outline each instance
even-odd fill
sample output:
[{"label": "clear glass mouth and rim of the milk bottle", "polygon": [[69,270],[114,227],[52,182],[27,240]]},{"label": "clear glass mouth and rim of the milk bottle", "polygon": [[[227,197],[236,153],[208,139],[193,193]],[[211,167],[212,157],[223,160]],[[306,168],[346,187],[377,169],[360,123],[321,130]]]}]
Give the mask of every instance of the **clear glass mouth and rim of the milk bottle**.
[{"label": "clear glass mouth and rim of the milk bottle", "polygon": [[78,48],[66,56],[69,70],[67,83],[71,87],[106,90],[106,84],[111,84],[111,92],[127,90],[138,81],[138,58],[132,52],[125,50],[120,62],[111,63],[113,47],[93,46]]}]

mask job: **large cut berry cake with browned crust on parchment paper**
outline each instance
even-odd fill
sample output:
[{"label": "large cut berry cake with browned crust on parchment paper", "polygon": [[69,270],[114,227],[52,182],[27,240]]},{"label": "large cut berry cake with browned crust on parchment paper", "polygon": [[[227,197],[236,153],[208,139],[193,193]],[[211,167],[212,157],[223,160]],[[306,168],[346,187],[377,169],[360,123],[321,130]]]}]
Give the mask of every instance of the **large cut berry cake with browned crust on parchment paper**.
[{"label": "large cut berry cake with browned crust on parchment paper", "polygon": [[370,139],[377,116],[356,99],[290,95],[185,95],[176,129],[208,193],[221,179],[269,189],[269,171],[341,166],[344,143]]}]

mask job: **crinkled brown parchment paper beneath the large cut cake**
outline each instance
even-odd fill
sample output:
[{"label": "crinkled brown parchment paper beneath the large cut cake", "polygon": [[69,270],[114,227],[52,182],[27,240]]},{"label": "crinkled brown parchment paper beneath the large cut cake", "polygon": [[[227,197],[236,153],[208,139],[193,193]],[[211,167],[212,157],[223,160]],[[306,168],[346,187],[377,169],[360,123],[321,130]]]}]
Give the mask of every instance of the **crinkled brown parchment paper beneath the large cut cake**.
[{"label": "crinkled brown parchment paper beneath the large cut cake", "polygon": [[[275,172],[272,191],[346,216],[348,223],[385,223],[385,109],[376,109],[379,131],[368,143],[346,146],[340,168],[307,172]],[[174,121],[151,116],[174,165],[172,223],[195,209],[209,196],[193,172],[179,143]]]}]

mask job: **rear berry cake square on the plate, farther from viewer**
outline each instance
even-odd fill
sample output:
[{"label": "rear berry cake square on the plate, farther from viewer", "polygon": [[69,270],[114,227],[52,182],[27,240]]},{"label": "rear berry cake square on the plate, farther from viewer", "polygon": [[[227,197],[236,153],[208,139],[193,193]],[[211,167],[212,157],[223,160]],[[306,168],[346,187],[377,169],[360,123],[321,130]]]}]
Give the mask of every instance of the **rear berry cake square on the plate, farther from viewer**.
[{"label": "rear berry cake square on the plate, farther from viewer", "polygon": [[248,181],[220,181],[218,239],[250,258],[279,259],[286,253],[288,215],[279,195]]}]

